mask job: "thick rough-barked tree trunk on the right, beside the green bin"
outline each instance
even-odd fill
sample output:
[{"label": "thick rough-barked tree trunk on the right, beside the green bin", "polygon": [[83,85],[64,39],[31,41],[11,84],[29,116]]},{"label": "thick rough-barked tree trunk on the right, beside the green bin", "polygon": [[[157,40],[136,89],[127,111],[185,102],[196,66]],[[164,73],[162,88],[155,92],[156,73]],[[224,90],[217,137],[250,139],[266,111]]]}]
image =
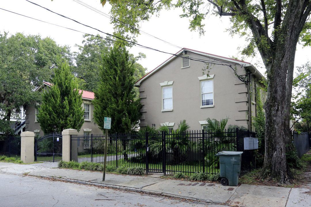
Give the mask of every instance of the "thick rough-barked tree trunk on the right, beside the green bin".
[{"label": "thick rough-barked tree trunk on the right, beside the green bin", "polygon": [[287,150],[292,150],[289,131],[290,101],[296,45],[304,1],[290,1],[280,29],[276,31],[271,67],[266,65],[268,88],[266,102],[265,160],[262,178],[288,182]]}]

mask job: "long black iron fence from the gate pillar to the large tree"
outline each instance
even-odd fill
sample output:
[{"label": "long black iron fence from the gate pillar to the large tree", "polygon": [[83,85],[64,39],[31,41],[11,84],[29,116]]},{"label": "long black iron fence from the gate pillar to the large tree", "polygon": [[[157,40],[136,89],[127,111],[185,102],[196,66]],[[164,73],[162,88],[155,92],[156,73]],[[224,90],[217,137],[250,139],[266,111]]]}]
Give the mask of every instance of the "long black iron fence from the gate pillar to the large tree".
[{"label": "long black iron fence from the gate pillar to the large tree", "polygon": [[[248,131],[189,131],[166,134],[109,134],[106,164],[143,167],[146,173],[219,173],[219,151],[243,151],[241,175],[255,168],[253,150],[244,150]],[[104,135],[72,135],[71,160],[104,162]]]}]

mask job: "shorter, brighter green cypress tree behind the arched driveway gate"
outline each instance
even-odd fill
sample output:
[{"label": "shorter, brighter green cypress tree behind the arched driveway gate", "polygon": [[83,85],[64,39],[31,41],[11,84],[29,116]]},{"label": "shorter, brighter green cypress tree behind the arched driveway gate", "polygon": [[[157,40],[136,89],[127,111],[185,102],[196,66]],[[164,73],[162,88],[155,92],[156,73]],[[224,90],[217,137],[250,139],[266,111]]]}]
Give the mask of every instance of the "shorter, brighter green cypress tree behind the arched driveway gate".
[{"label": "shorter, brighter green cypress tree behind the arched driveway gate", "polygon": [[50,90],[42,94],[37,120],[44,133],[60,133],[67,128],[79,131],[84,123],[84,111],[74,75],[67,63],[54,72]]}]

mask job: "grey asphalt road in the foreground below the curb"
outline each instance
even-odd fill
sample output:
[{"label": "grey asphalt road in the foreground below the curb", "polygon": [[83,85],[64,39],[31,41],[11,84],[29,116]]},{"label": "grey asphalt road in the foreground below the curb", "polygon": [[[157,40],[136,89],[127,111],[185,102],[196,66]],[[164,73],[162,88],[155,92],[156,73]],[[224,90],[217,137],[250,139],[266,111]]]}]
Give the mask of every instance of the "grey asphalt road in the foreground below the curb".
[{"label": "grey asphalt road in the foreground below the curb", "polygon": [[0,173],[0,207],[155,206],[223,207],[108,188]]}]

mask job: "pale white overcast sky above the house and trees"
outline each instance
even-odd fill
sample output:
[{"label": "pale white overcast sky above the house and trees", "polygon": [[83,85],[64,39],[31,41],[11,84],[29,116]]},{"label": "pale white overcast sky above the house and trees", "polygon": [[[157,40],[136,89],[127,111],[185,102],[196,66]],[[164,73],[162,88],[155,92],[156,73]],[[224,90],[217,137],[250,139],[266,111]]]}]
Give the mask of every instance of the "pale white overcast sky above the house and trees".
[{"label": "pale white overcast sky above the house and trees", "polygon": [[[100,12],[109,15],[111,6],[106,3],[104,7],[100,4],[100,0],[29,0],[46,7],[51,11],[67,16],[82,24],[89,25],[93,28],[99,29],[105,33],[112,34],[114,29],[110,24],[110,19]],[[26,0],[0,0],[0,32],[9,32],[15,34],[21,32],[24,35],[37,35],[41,38],[50,37],[59,45],[68,45],[71,51],[78,51],[75,44],[82,45],[82,36],[88,34],[100,34],[106,37],[106,34],[100,33],[95,29],[88,28],[78,24],[72,20],[61,17],[44,8],[36,6]],[[80,3],[79,3],[80,2]],[[81,2],[95,8],[99,12],[81,5]],[[38,20],[49,22],[40,22],[24,16],[20,16],[2,9],[12,11],[24,16],[29,16]],[[141,34],[137,37],[137,43],[140,45],[151,47],[160,51],[168,53],[176,53],[180,48],[186,47],[193,50],[207,52],[214,55],[224,57],[239,57],[238,47],[246,45],[245,38],[240,38],[238,35],[231,37],[226,29],[230,27],[229,17],[216,17],[213,15],[207,16],[204,20],[206,33],[204,36],[199,35],[197,31],[190,31],[189,20],[187,18],[180,18],[182,14],[181,9],[163,10],[160,16],[153,16],[149,21],[141,22],[141,31],[150,34]],[[56,25],[74,29],[65,29]],[[154,37],[156,38],[154,38]],[[158,39],[164,40],[160,41]],[[170,44],[169,44],[170,43]],[[145,53],[146,58],[138,61],[147,71],[151,71],[158,65],[166,61],[171,55],[162,52],[149,50],[142,47],[134,46],[129,48],[129,52],[137,56],[139,52]],[[295,56],[295,66],[301,66],[311,61],[311,48],[302,48],[297,45]],[[261,57],[246,58],[244,61],[250,62],[253,65],[261,63]],[[257,69],[264,74],[265,70],[257,66]]]}]

